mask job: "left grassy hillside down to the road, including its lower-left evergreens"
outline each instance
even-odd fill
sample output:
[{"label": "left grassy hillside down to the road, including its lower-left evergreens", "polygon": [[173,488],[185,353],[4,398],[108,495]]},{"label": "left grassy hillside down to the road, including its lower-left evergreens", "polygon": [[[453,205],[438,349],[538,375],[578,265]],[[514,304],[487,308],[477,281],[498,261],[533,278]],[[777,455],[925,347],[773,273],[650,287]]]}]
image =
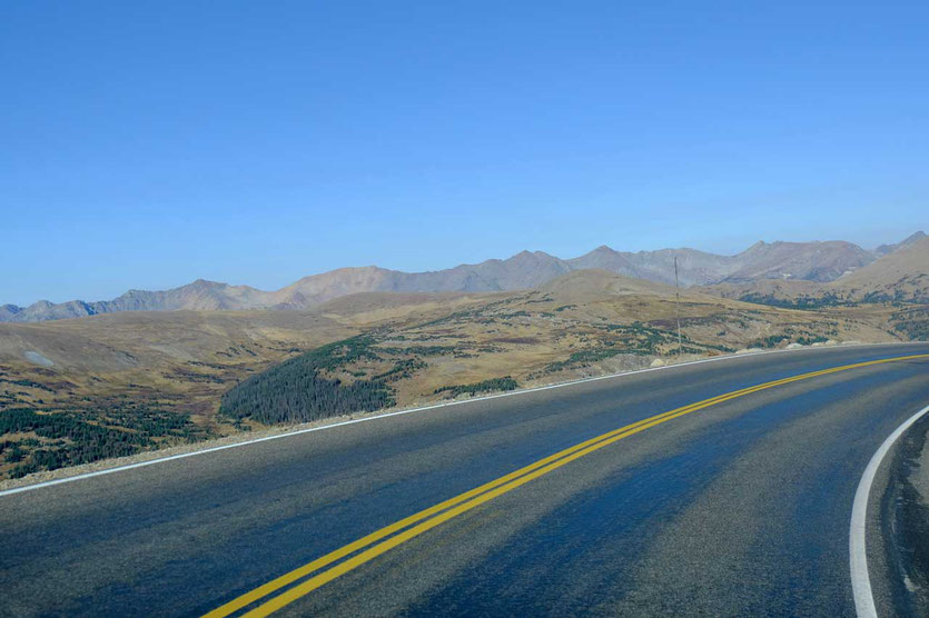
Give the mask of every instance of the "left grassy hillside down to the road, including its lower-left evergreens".
[{"label": "left grassy hillside down to the road, including its lower-left evergreens", "polygon": [[396,295],[340,312],[127,312],[0,325],[0,478],[247,430],[217,415],[223,393],[240,381],[385,321],[432,319],[485,298]]}]

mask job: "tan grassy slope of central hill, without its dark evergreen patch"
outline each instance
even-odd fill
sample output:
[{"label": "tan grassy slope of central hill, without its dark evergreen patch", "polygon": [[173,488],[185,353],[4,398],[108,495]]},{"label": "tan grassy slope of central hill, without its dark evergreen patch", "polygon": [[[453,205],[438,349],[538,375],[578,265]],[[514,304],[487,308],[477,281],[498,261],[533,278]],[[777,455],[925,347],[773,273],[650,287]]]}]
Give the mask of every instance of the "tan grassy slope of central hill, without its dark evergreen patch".
[{"label": "tan grassy slope of central hill, without its dark evergreen patch", "polygon": [[[325,377],[370,379],[403,363],[392,379],[398,405],[435,399],[443,387],[511,376],[538,385],[649,366],[676,356],[674,288],[606,271],[577,271],[536,290],[467,311],[374,333],[378,361],[339,367]],[[887,341],[886,316],[778,309],[684,290],[684,356],[750,346],[783,347],[827,339]],[[418,350],[418,351],[417,351]]]}]

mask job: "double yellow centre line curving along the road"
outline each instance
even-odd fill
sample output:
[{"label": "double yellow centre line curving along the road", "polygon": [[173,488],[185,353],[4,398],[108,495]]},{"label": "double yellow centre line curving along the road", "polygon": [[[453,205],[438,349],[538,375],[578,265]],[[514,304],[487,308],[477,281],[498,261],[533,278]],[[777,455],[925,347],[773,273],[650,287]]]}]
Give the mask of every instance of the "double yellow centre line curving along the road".
[{"label": "double yellow centre line curving along the road", "polygon": [[[365,562],[376,558],[377,556],[381,556],[385,551],[388,551],[394,547],[397,547],[398,545],[406,542],[407,540],[417,537],[432,528],[435,528],[444,521],[457,517],[458,515],[462,515],[463,512],[466,512],[480,505],[483,505],[484,502],[493,500],[494,498],[502,496],[503,494],[512,491],[513,489],[516,489],[517,487],[521,487],[543,475],[547,475],[548,472],[556,470],[562,466],[565,466],[571,461],[574,461],[575,459],[584,457],[585,455],[590,455],[591,452],[594,452],[603,447],[612,445],[613,442],[622,440],[623,438],[627,438],[629,436],[639,433],[640,431],[644,431],[645,429],[649,429],[656,425],[661,425],[663,422],[668,422],[669,420],[682,417],[684,415],[695,412],[704,408],[709,408],[710,406],[715,406],[718,403],[722,403],[731,399],[744,397],[747,395],[758,392],[760,390],[765,390],[769,388],[774,388],[777,386],[795,382],[799,380],[806,380],[818,376],[836,373],[838,371],[857,369],[860,367],[869,367],[886,362],[912,360],[919,358],[929,358],[929,355],[912,355],[905,357],[887,358],[881,360],[870,360],[866,362],[857,362],[854,365],[844,365],[841,367],[822,369],[820,371],[811,371],[809,373],[801,373],[799,376],[792,376],[780,380],[773,380],[770,382],[764,382],[761,385],[743,388],[732,392],[719,395],[710,399],[704,399],[702,401],[698,401],[689,406],[675,408],[673,410],[669,410],[666,412],[649,417],[646,419],[633,422],[631,425],[626,425],[613,431],[609,431],[595,438],[591,438],[589,440],[574,445],[573,447],[561,450],[554,455],[550,455],[544,459],[540,459],[538,461],[520,468],[518,470],[510,472],[508,475],[505,475],[480,487],[471,489],[470,491],[465,491],[464,494],[459,494],[454,498],[449,498],[448,500],[439,502],[433,507],[429,507],[409,517],[401,519],[399,521],[391,524],[389,526],[381,528],[379,530],[376,530],[365,537],[362,537],[356,541],[340,547],[335,551],[332,551],[320,558],[317,558],[316,560],[313,560],[312,562],[308,562],[303,567],[294,569],[290,572],[287,572],[263,586],[259,586],[258,588],[249,592],[246,592],[245,595],[237,597],[236,599],[227,602],[226,605],[206,614],[204,618],[220,618],[235,614],[244,607],[251,605],[267,597],[268,595],[279,590],[280,588],[284,588],[337,560],[340,560],[342,558],[345,558],[346,556],[349,556],[355,551],[368,548],[365,551],[358,554],[357,556],[354,556],[326,571],[310,577],[303,584],[299,584],[298,586],[290,588],[286,592],[277,597],[274,597],[273,599],[256,607],[251,611],[245,614],[245,616],[249,618],[268,616],[271,612],[277,611],[278,609],[291,604],[296,599],[319,588],[320,586],[332,581],[333,579],[359,567],[360,565],[364,565]],[[419,524],[413,526],[417,522]],[[411,528],[411,526],[413,527]],[[393,536],[383,542],[377,542],[381,539],[389,537],[391,535],[394,535],[394,532],[398,532],[401,530],[403,531],[397,534],[396,536]]]}]

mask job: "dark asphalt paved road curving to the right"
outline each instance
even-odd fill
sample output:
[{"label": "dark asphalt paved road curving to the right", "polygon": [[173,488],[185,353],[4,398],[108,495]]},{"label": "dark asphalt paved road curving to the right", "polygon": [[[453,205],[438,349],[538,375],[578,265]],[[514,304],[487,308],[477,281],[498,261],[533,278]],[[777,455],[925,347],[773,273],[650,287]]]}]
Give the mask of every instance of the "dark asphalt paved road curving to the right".
[{"label": "dark asphalt paved road curving to the right", "polygon": [[[201,615],[530,466],[239,612],[297,586],[281,615],[853,615],[854,492],[884,438],[929,403],[929,358],[684,407],[920,353],[929,345],[674,367],[0,496],[0,612]],[[879,610],[912,610],[888,554],[901,541],[880,508],[899,487],[886,468],[870,510],[872,584]]]}]

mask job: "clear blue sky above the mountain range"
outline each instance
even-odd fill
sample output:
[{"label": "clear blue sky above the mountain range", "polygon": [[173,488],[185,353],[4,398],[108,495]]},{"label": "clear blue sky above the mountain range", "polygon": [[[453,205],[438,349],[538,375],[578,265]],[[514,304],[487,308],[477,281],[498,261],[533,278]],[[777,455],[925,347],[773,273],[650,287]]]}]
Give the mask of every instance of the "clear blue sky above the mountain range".
[{"label": "clear blue sky above the mountain range", "polygon": [[[0,7],[0,303],[929,228],[929,3]],[[929,230],[927,230],[929,231]]]}]

